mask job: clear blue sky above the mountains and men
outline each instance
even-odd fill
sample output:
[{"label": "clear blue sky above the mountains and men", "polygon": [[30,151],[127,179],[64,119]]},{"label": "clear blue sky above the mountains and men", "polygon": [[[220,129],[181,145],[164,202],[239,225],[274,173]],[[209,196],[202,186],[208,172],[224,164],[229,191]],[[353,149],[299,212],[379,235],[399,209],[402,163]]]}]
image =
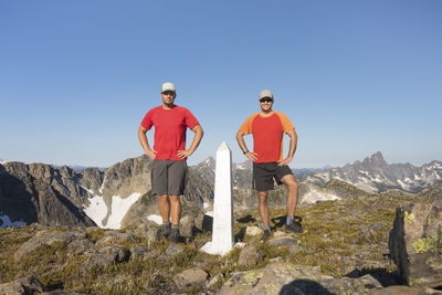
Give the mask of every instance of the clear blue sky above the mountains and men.
[{"label": "clear blue sky above the mountains and men", "polygon": [[296,126],[293,168],[441,160],[441,15],[440,0],[1,1],[0,159],[139,156],[171,81],[204,129],[190,165],[223,140],[245,160],[234,135],[264,88]]}]

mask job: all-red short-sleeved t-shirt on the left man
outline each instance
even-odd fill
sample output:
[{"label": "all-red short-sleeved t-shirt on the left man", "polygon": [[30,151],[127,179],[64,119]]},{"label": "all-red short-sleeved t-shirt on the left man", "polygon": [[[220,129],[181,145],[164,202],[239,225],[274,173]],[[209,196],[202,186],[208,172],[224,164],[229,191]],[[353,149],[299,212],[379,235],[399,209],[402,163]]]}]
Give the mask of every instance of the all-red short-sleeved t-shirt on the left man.
[{"label": "all-red short-sleeved t-shirt on the left man", "polygon": [[199,122],[182,106],[164,109],[162,105],[150,109],[141,122],[141,126],[150,130],[155,127],[154,149],[157,160],[185,159],[177,156],[178,150],[186,150],[186,128],[193,129]]}]

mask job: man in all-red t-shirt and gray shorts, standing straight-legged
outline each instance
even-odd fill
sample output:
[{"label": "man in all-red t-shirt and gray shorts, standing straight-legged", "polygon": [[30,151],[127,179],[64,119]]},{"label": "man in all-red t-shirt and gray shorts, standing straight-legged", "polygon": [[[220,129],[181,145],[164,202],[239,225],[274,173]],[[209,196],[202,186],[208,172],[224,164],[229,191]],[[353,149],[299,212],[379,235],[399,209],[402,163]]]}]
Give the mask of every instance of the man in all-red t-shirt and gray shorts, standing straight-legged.
[{"label": "man in all-red t-shirt and gray shorts, standing straight-legged", "polygon": [[[161,214],[161,234],[172,242],[179,240],[181,213],[180,194],[185,193],[187,164],[202,138],[202,128],[197,118],[186,107],[177,106],[175,85],[170,82],[161,86],[162,105],[154,107],[144,117],[138,128],[138,138],[146,155],[154,160],[150,172],[151,192],[158,196]],[[146,133],[155,127],[154,148]],[[186,149],[187,128],[194,133],[192,144]],[[170,202],[170,203],[169,203]],[[172,221],[170,224],[169,218]]]}]

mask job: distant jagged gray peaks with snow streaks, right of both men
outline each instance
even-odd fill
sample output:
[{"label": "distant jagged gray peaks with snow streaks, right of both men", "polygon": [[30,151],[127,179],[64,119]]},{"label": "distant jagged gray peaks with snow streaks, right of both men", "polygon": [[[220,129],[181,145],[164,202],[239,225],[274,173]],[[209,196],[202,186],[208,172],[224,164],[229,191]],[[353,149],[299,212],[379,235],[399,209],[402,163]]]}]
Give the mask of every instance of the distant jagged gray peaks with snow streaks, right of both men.
[{"label": "distant jagged gray peaks with snow streaks, right of both men", "polygon": [[442,182],[442,162],[432,161],[421,167],[411,164],[389,165],[378,151],[362,161],[330,168],[325,172],[304,175],[301,181],[322,187],[332,179],[349,182],[369,192],[381,192],[387,189],[415,192]]}]

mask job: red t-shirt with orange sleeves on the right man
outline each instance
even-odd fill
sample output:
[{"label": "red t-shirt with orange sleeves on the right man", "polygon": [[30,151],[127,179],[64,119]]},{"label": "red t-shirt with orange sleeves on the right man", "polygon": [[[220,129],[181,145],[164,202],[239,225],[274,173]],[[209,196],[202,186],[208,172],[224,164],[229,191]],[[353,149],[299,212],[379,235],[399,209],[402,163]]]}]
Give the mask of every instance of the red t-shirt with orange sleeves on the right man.
[{"label": "red t-shirt with orange sleeves on the right man", "polygon": [[283,159],[283,136],[294,129],[287,116],[273,112],[269,117],[251,115],[240,127],[243,134],[253,134],[253,152],[256,162],[275,162]]}]

